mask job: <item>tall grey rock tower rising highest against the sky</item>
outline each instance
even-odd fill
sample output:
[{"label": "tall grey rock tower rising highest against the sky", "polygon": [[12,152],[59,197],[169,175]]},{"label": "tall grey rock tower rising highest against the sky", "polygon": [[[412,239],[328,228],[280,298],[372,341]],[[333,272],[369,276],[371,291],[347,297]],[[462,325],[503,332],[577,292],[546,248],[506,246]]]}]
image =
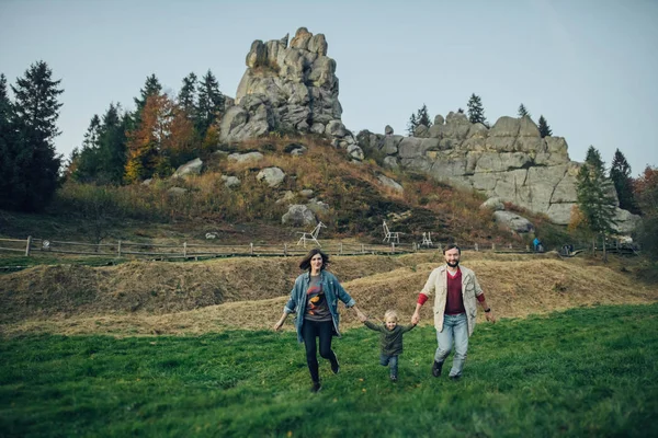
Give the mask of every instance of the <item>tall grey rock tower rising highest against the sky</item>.
[{"label": "tall grey rock tower rising highest against the sky", "polygon": [[[281,39],[251,44],[247,71],[240,80],[235,106],[220,123],[223,141],[239,141],[270,131],[314,132],[336,140],[336,146],[354,145],[353,135],[341,122],[336,61],[327,56],[322,34],[299,27],[290,42]],[[359,159],[359,152],[350,152]]]}]

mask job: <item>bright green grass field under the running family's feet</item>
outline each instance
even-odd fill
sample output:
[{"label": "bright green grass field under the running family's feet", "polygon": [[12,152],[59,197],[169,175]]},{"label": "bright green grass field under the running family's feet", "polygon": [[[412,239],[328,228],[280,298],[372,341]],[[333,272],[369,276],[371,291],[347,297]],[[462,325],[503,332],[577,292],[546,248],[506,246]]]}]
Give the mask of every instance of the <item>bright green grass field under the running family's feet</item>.
[{"label": "bright green grass field under the running family's feet", "polygon": [[[309,393],[292,332],[30,336],[0,343],[0,436],[658,436],[658,304],[480,324],[461,381],[430,374],[411,331],[400,380],[377,334],[334,339]],[[446,372],[444,372],[446,373]]]}]

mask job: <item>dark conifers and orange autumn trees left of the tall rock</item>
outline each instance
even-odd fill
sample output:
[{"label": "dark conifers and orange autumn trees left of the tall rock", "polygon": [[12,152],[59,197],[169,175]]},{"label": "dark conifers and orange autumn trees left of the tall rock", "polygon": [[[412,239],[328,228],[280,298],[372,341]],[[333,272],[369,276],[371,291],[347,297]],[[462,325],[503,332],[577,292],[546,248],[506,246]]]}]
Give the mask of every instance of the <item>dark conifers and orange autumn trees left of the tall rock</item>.
[{"label": "dark conifers and orange autumn trees left of the tall rock", "polygon": [[0,73],[2,209],[41,211],[66,178],[131,184],[168,176],[218,143],[225,96],[213,72],[208,70],[201,80],[194,72],[188,74],[178,96],[162,92],[151,74],[134,99],[135,111],[111,103],[102,116],[93,115],[82,145],[65,162],[54,142],[60,134],[60,83],[43,60],[9,88]]}]

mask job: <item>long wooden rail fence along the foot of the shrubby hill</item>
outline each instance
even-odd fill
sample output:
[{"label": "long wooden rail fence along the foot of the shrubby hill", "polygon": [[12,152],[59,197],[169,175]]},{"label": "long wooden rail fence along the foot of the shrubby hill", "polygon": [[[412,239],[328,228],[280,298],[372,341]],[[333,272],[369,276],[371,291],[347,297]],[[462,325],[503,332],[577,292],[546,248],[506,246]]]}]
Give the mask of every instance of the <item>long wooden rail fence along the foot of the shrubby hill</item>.
[{"label": "long wooden rail fence along the foot of the shrubby hill", "polygon": [[[404,254],[420,251],[441,251],[444,244],[436,243],[426,246],[417,243],[390,243],[390,244],[364,244],[364,243],[324,243],[322,251],[332,255],[363,255],[363,254]],[[213,257],[234,257],[234,256],[300,256],[309,249],[316,247],[315,244],[306,245],[295,243],[264,244],[249,243],[243,245],[225,244],[154,244],[116,241],[114,243],[82,243],[50,241],[45,239],[33,239],[29,237],[25,240],[0,239],[0,252],[22,253],[24,256],[35,254],[76,254],[86,256],[105,256],[105,257],[145,257],[149,260],[200,260]],[[509,253],[530,252],[530,247],[487,244],[460,245],[462,250],[473,251],[496,251]]]}]

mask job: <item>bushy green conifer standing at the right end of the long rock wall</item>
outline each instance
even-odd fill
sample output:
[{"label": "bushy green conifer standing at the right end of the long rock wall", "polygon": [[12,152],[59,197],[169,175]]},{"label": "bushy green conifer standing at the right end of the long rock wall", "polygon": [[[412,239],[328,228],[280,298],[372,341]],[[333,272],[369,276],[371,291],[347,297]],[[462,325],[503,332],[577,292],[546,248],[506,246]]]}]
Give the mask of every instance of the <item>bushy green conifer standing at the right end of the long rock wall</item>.
[{"label": "bushy green conifer standing at the right end of the long rock wall", "polygon": [[582,214],[583,228],[592,237],[593,247],[597,237],[612,233],[616,223],[614,220],[616,209],[614,187],[610,178],[605,176],[605,163],[593,146],[589,147],[587,158],[576,180],[578,209]]}]

